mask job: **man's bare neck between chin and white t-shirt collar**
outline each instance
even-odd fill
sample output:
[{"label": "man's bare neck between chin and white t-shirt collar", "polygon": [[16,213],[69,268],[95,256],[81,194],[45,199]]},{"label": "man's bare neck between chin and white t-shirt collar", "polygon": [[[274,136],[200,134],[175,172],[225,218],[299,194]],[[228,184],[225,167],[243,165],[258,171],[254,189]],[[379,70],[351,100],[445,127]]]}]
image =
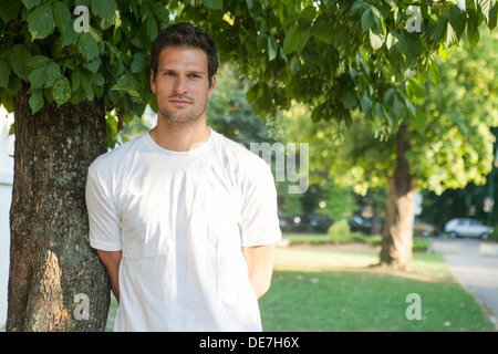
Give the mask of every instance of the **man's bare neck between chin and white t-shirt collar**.
[{"label": "man's bare neck between chin and white t-shirt collar", "polygon": [[[159,117],[158,117],[159,118]],[[199,119],[194,124],[160,124],[151,131],[151,137],[160,147],[170,152],[193,150],[207,142],[210,129],[206,121]]]}]

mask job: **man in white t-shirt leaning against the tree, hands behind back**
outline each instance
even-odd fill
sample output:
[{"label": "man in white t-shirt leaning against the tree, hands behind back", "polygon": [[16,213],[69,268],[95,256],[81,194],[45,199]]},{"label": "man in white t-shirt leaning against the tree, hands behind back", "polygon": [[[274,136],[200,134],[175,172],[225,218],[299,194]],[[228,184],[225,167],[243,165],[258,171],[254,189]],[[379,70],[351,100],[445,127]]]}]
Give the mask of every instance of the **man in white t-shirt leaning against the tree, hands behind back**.
[{"label": "man in white t-shirt leaning against the tree, hands behind back", "polygon": [[189,23],[152,48],[157,125],[90,167],[90,242],[120,302],[115,331],[261,331],[281,238],[269,166],[212,131],[212,39]]}]

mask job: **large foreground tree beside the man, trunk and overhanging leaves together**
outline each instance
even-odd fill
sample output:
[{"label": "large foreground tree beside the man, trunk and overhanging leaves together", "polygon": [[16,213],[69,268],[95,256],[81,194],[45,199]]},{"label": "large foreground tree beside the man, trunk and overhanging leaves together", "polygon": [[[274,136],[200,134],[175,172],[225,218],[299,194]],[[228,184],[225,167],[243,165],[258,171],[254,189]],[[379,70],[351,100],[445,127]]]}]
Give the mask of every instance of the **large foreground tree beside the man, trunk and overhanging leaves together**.
[{"label": "large foreground tree beside the man, trunk and overhanging leaves together", "polygon": [[[87,241],[86,169],[107,148],[106,116],[121,126],[155,108],[149,44],[170,18],[212,33],[221,59],[256,82],[247,98],[262,117],[297,100],[314,121],[350,125],[360,107],[397,127],[423,124],[408,80],[434,71],[464,30],[475,43],[497,12],[494,0],[421,7],[424,30],[409,33],[397,1],[0,3],[0,100],[15,117],[8,331],[103,330],[110,291]],[[87,320],[72,316],[76,292],[90,299]]]}]

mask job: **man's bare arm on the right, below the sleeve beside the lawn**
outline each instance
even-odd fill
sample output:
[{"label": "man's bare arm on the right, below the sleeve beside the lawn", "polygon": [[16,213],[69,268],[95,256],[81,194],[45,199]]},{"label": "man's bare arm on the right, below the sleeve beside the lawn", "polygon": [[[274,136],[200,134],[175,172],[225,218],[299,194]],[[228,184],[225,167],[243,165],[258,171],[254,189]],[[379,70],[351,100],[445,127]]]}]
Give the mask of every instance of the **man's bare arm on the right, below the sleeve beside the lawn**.
[{"label": "man's bare arm on the right, below the sleeve beside the lawn", "polygon": [[270,289],[274,247],[276,243],[242,247],[242,254],[249,269],[249,280],[258,299]]}]

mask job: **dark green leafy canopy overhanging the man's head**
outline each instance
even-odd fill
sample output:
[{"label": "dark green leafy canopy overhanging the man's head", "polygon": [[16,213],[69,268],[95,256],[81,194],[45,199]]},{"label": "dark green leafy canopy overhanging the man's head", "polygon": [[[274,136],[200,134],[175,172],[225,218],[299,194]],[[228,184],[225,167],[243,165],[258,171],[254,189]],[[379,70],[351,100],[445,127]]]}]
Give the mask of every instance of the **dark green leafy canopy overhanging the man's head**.
[{"label": "dark green leafy canopy overhanging the man's head", "polygon": [[[412,101],[438,76],[437,54],[480,23],[497,23],[496,0],[424,1],[421,32],[405,29],[413,1],[394,0],[0,0],[0,102],[24,85],[33,112],[46,103],[103,100],[121,117],[155,110],[148,87],[149,45],[170,19],[193,21],[255,84],[247,98],[262,117],[291,101],[313,121],[350,125],[367,118],[423,128]],[[87,9],[87,27],[81,25]],[[411,12],[409,12],[411,13]],[[77,22],[77,23],[75,23]],[[81,29],[87,29],[81,30]],[[76,30],[79,29],[79,30]]]}]

